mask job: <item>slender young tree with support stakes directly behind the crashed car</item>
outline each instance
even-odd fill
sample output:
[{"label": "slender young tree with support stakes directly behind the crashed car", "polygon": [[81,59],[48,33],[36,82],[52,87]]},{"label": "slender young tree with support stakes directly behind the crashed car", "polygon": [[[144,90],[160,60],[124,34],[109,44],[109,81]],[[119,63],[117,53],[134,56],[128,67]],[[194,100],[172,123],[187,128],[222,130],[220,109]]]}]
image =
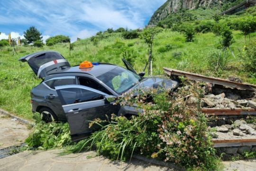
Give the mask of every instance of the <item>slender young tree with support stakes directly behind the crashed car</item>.
[{"label": "slender young tree with support stakes directly behind the crashed car", "polygon": [[[149,64],[148,66],[148,75],[152,74],[151,68],[152,68],[152,52],[153,52],[153,43],[154,43],[154,38],[155,35],[158,34],[159,32],[162,31],[162,28],[159,27],[152,27],[152,28],[146,28],[143,30],[142,34],[141,34],[141,38],[145,41],[145,43],[147,44],[148,47],[148,61],[146,63],[146,66]],[[146,66],[144,68],[144,71],[146,69]]]}]

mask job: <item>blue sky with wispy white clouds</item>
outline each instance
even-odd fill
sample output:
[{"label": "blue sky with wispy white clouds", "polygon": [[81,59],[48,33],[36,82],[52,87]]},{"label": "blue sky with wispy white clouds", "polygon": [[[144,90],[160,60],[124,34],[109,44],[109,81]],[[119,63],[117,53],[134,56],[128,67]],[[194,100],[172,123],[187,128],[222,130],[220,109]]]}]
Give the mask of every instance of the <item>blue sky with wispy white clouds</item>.
[{"label": "blue sky with wispy white clouds", "polygon": [[43,40],[58,34],[74,42],[108,28],[141,28],[166,0],[0,0],[0,40],[35,26]]}]

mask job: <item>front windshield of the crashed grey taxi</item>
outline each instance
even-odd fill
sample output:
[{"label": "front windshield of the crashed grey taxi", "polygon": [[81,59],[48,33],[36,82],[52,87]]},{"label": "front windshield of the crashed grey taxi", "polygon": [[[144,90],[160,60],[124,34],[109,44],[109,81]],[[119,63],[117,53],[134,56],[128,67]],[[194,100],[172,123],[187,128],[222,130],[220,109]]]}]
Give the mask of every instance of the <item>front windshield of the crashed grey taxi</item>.
[{"label": "front windshield of the crashed grey taxi", "polygon": [[140,77],[137,74],[121,67],[114,68],[97,78],[118,94],[126,92],[140,81]]}]

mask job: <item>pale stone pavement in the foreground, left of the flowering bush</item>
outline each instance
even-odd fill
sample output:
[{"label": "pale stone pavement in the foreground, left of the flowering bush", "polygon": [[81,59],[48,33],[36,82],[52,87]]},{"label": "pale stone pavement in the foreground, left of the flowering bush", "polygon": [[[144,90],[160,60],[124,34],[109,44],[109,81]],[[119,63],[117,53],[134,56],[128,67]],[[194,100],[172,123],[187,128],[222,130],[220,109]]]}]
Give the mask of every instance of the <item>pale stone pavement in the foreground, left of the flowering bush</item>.
[{"label": "pale stone pavement in the foreground, left of the flowering bush", "polygon": [[0,159],[0,171],[171,171],[170,168],[150,165],[136,159],[128,162],[111,162],[85,152],[58,156],[60,150],[25,151]]}]

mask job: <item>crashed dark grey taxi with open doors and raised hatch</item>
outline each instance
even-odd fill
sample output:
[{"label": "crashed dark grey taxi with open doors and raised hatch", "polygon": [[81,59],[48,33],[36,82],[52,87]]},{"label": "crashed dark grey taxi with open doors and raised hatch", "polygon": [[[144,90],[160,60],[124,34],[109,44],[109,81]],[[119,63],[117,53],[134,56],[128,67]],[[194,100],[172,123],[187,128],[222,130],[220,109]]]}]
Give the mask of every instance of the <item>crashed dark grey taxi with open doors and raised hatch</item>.
[{"label": "crashed dark grey taxi with open doors and raised hatch", "polygon": [[84,61],[71,67],[55,51],[40,51],[19,59],[27,62],[42,82],[31,90],[32,111],[42,120],[67,121],[73,141],[87,137],[95,128],[90,120],[105,120],[112,113],[136,115],[135,107],[113,105],[117,97],[135,88],[175,88],[178,82],[144,77],[124,59],[126,68],[109,63]]}]

